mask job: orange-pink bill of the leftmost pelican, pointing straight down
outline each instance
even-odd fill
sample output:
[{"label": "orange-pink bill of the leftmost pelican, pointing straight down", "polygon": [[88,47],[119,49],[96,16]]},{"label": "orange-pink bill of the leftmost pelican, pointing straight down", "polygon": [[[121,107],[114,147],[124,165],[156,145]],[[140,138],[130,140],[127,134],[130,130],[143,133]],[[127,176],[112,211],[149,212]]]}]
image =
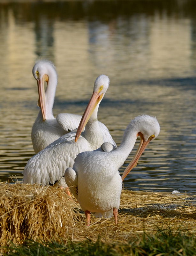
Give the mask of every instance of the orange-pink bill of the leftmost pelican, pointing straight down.
[{"label": "orange-pink bill of the leftmost pelican, pointing straight down", "polygon": [[38,107],[41,108],[41,113],[43,116],[43,121],[46,120],[46,105],[45,105],[45,92],[44,92],[44,82],[48,82],[48,76],[44,75],[42,79],[37,80],[37,88],[39,94],[39,100],[37,102]]}]

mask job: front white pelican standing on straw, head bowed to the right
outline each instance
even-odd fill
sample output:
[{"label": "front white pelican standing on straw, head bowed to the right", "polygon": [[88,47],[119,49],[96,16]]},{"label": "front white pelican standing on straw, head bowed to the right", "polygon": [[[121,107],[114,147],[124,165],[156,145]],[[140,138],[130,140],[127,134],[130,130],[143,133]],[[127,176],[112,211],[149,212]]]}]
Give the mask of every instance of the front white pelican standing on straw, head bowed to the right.
[{"label": "front white pelican standing on straw, head bowed to the right", "polygon": [[118,169],[132,151],[138,135],[141,139],[139,148],[125,169],[123,179],[136,166],[148,143],[154,140],[159,132],[159,123],[155,117],[137,116],[127,126],[117,149],[110,148],[108,152],[101,152],[99,148],[91,152],[82,152],[76,157],[73,168],[66,169],[65,181],[85,212],[88,225],[90,212],[100,218],[110,218],[113,214],[117,224],[122,190],[122,179]]}]

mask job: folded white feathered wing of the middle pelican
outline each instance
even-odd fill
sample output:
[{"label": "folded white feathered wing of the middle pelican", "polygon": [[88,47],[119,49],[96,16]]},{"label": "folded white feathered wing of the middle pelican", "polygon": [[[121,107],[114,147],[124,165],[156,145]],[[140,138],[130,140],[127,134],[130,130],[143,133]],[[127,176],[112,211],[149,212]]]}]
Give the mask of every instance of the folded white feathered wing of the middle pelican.
[{"label": "folded white feathered wing of the middle pelican", "polygon": [[59,180],[65,170],[69,166],[73,166],[75,157],[81,151],[90,149],[87,140],[82,136],[75,143],[75,134],[76,132],[71,132],[63,135],[31,157],[23,171],[23,182],[41,183],[46,186]]}]

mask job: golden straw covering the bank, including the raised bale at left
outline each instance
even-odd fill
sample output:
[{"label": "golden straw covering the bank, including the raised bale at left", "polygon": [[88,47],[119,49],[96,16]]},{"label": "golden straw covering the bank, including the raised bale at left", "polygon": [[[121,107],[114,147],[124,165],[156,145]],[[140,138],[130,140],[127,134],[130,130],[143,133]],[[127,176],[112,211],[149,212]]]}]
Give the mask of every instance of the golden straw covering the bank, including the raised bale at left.
[{"label": "golden straw covering the bank, including the raised bale at left", "polygon": [[[126,243],[145,230],[157,227],[196,232],[196,197],[161,193],[122,191],[118,225],[114,218],[98,219],[85,214],[63,190],[27,184],[0,183],[0,244],[21,244],[25,239],[42,241],[63,238]],[[73,198],[74,199],[74,198]]]}]

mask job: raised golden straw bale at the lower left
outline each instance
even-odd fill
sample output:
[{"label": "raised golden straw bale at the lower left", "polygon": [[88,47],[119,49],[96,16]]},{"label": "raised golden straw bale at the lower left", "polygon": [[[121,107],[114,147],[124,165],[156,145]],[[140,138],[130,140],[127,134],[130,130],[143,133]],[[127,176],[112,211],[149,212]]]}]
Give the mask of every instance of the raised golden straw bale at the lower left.
[{"label": "raised golden straw bale at the lower left", "polygon": [[48,240],[74,226],[76,214],[62,190],[0,183],[0,244]]}]

